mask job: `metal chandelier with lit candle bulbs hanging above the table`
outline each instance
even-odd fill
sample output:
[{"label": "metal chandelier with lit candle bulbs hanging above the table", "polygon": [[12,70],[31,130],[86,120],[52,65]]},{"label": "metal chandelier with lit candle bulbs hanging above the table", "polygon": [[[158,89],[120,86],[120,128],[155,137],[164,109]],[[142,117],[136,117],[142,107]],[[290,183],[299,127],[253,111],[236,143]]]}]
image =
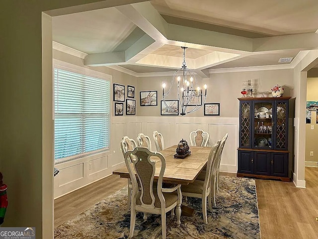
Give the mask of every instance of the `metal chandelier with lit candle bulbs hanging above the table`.
[{"label": "metal chandelier with lit candle bulbs hanging above the table", "polygon": [[[164,92],[165,83],[162,84],[162,100],[165,107],[170,112],[178,113],[181,116],[185,116],[185,114],[195,112],[203,106],[207,97],[207,85],[204,85],[205,91],[203,94],[203,91],[198,86],[197,79],[195,78],[195,73],[191,69],[188,69],[186,66],[185,49],[187,47],[181,46],[181,48],[183,49],[182,67],[174,73],[168,92]],[[169,95],[172,89],[175,78],[177,78],[176,91],[180,110],[178,110],[178,108],[176,107],[171,107],[166,102],[166,97]]]}]

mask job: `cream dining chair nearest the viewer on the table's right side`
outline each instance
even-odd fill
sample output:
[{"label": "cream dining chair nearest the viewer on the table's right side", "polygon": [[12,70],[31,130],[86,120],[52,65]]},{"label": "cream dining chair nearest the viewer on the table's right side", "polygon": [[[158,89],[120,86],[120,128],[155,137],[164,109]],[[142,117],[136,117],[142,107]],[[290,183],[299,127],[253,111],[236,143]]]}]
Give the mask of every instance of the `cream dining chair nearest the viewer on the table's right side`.
[{"label": "cream dining chair nearest the viewer on the table's right side", "polygon": [[216,160],[217,151],[219,149],[221,140],[218,140],[211,148],[208,162],[207,162],[207,170],[205,173],[205,180],[195,180],[193,183],[189,183],[188,185],[181,186],[181,192],[183,196],[186,197],[195,197],[202,199],[202,212],[203,212],[203,221],[205,224],[208,223],[207,217],[207,199],[209,201],[209,209],[212,212],[212,197],[208,197],[212,193],[210,176],[212,170],[212,164]]}]

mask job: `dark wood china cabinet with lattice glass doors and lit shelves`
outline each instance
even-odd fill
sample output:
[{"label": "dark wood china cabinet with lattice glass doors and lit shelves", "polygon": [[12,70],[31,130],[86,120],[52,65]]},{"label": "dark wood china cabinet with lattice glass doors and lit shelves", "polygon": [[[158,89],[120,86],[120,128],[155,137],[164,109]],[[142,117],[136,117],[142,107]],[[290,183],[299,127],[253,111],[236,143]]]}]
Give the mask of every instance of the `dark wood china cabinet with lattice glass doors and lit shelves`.
[{"label": "dark wood china cabinet with lattice glass doors and lit shelves", "polygon": [[294,100],[291,97],[239,99],[238,177],[290,181]]}]

